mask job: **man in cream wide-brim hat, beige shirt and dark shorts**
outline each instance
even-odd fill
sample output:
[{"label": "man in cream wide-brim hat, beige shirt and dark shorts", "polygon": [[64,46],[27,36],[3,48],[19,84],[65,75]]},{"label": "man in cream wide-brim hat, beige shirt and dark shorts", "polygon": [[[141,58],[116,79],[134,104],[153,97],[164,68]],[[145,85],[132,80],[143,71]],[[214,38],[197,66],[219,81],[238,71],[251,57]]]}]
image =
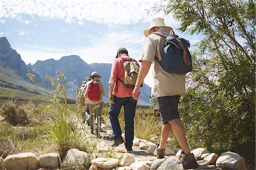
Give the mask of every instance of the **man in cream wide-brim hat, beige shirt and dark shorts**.
[{"label": "man in cream wide-brim hat, beige shirt and dark shorts", "polygon": [[195,156],[191,154],[188,147],[185,130],[177,110],[180,96],[185,94],[185,74],[168,73],[158,63],[162,59],[161,52],[166,37],[170,35],[170,31],[172,31],[172,27],[166,26],[163,18],[152,19],[150,28],[144,30],[144,35],[147,38],[142,47],[139,60],[142,64],[139,68],[137,82],[133,90],[133,98],[139,99],[140,85],[152,64],[154,85],[152,86],[151,96],[158,98],[162,121],[160,144],[156,146],[154,155],[160,159],[164,157],[164,146],[170,133],[174,132],[183,151],[183,154],[180,156],[183,167],[185,169],[196,169],[198,165]]}]

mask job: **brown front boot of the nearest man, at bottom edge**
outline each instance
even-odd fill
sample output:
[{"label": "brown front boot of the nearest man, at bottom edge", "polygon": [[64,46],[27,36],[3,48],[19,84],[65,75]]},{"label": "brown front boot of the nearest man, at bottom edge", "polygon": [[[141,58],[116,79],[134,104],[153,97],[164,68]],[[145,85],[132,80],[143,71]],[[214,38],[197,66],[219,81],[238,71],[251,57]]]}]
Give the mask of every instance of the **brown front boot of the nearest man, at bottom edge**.
[{"label": "brown front boot of the nearest man, at bottom edge", "polygon": [[179,160],[182,162],[184,169],[198,168],[194,154],[185,155],[181,152],[181,155],[179,155]]}]

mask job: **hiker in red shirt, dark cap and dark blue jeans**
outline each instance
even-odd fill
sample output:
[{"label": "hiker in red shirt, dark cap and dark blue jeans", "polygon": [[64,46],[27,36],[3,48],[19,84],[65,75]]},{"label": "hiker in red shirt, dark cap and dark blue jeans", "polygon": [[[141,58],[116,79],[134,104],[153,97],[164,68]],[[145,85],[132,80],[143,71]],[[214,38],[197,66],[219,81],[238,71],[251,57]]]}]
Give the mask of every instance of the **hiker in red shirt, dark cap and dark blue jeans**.
[{"label": "hiker in red shirt, dark cap and dark blue jeans", "polygon": [[[137,101],[133,99],[133,88],[125,88],[123,85],[123,78],[125,75],[125,68],[123,63],[130,60],[126,48],[119,48],[117,56],[112,64],[110,79],[109,79],[109,118],[113,129],[114,146],[123,143],[122,131],[118,121],[120,109],[123,106],[125,111],[125,147],[127,151],[132,151],[134,139],[134,115]],[[137,61],[136,61],[137,62]]]}]

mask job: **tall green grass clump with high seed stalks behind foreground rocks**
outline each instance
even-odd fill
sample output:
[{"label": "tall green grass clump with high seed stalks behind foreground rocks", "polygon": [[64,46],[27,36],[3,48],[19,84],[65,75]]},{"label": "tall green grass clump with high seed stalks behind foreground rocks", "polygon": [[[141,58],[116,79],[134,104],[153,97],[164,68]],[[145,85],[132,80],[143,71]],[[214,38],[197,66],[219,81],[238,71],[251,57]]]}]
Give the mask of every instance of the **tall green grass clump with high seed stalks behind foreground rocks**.
[{"label": "tall green grass clump with high seed stalks behind foreground rocks", "polygon": [[54,77],[48,77],[52,85],[50,112],[53,118],[50,119],[51,133],[49,139],[53,139],[61,156],[70,148],[88,152],[86,141],[82,139],[82,132],[77,128],[76,117],[71,117],[72,111],[67,103],[67,94],[65,89],[65,76],[57,71],[57,82]]}]

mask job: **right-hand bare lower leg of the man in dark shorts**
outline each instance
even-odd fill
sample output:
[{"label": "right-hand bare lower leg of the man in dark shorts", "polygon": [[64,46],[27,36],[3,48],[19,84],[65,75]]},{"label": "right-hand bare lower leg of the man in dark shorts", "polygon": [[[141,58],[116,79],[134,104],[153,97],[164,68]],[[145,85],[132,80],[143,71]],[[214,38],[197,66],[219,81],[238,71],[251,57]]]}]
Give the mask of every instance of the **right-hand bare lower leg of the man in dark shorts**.
[{"label": "right-hand bare lower leg of the man in dark shorts", "polygon": [[170,123],[172,127],[172,131],[174,132],[174,135],[180,144],[181,150],[183,150],[185,155],[190,154],[187,139],[185,137],[185,129],[180,119],[174,119],[174,120],[168,121],[168,123]]}]

